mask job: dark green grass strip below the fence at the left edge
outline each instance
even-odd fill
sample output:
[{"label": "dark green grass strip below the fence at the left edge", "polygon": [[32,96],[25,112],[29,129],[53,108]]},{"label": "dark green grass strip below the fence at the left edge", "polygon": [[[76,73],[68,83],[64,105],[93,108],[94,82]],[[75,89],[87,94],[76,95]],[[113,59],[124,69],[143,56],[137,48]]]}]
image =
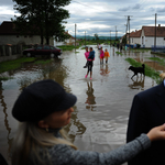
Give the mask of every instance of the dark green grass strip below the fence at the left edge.
[{"label": "dark green grass strip below the fence at the left edge", "polygon": [[0,74],[21,67],[21,63],[34,62],[35,59],[36,58],[34,58],[34,57],[21,57],[21,58],[14,59],[14,61],[2,62],[2,63],[0,63]]}]

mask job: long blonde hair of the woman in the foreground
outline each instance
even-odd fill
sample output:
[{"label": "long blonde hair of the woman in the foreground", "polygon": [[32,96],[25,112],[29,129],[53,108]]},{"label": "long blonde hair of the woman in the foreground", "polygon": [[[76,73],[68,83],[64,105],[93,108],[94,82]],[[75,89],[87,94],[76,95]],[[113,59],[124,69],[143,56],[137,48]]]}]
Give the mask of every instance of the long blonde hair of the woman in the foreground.
[{"label": "long blonde hair of the woman in the foreground", "polygon": [[77,147],[68,141],[63,129],[59,133],[63,139],[55,138],[53,133],[38,128],[36,123],[20,123],[12,145],[12,165],[26,165],[30,162],[44,164],[42,157],[46,156],[50,158],[47,148],[56,144],[67,144],[77,150]]}]

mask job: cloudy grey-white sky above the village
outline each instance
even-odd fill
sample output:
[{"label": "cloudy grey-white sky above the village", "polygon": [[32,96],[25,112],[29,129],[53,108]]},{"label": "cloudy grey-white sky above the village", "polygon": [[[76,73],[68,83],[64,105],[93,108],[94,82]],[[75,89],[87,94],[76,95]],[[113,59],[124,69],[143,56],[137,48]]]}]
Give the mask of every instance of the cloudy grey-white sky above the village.
[{"label": "cloudy grey-white sky above the village", "polygon": [[[0,23],[10,21],[14,14],[12,0],[0,0]],[[142,25],[154,25],[155,13],[157,24],[165,26],[165,1],[164,0],[72,0],[65,7],[70,13],[66,30],[75,35],[116,35],[122,36],[127,29],[128,15],[131,15],[130,31],[140,30]]]}]

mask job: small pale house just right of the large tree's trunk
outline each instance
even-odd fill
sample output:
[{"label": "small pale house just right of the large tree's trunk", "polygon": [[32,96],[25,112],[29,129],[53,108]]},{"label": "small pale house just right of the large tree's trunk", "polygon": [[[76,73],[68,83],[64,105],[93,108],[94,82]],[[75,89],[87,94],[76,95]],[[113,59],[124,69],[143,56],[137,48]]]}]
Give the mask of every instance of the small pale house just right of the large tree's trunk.
[{"label": "small pale house just right of the large tree's trunk", "polygon": [[[75,45],[75,37],[72,36],[68,31],[65,32],[69,36],[69,38],[66,38],[65,41],[57,40],[55,41],[55,46],[61,46],[61,45]],[[76,45],[77,45],[77,40],[76,40]]]}]

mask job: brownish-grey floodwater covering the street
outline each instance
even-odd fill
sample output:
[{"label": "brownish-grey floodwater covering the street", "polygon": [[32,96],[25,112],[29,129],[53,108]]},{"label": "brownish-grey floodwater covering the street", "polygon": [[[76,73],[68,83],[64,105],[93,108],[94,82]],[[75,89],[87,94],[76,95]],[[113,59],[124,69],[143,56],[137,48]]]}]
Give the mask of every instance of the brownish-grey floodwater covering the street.
[{"label": "brownish-grey floodwater covering the street", "polygon": [[[12,79],[0,81],[0,153],[10,163],[11,144],[18,121],[11,116],[13,103],[28,85],[42,79],[54,79],[68,92],[77,96],[75,112],[70,123],[65,128],[73,143],[82,151],[108,152],[125,143],[129,112],[134,95],[151,88],[156,82],[143,76],[134,77],[128,70],[130,64],[125,57],[146,61],[150,53],[123,52],[103,46],[110,52],[108,65],[100,65],[99,52],[96,46],[92,80],[86,79],[87,69],[85,50],[64,52],[58,59],[47,65],[33,63],[8,73]],[[148,62],[147,62],[148,63]],[[158,68],[158,70],[164,68]]]}]

